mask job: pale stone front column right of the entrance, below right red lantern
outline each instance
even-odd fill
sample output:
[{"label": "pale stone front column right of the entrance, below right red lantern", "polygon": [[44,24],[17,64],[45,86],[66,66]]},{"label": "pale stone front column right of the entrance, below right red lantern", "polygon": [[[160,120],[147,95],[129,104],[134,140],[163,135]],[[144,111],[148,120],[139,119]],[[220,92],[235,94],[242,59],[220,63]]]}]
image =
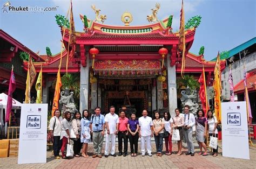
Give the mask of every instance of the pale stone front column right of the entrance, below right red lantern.
[{"label": "pale stone front column right of the entrance, below right red lantern", "polygon": [[175,116],[175,109],[177,105],[177,86],[176,86],[176,67],[170,66],[170,54],[167,55],[167,75],[168,75],[168,100],[169,100],[169,112],[171,117]]}]

